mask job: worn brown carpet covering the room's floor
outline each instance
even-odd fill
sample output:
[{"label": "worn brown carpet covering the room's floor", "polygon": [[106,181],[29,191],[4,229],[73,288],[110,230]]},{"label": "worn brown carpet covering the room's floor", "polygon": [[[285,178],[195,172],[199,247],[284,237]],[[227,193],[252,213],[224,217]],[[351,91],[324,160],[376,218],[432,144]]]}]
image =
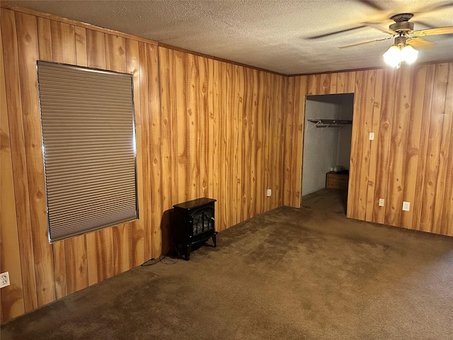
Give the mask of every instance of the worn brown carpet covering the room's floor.
[{"label": "worn brown carpet covering the room's floor", "polygon": [[1,340],[453,339],[453,238],[311,198],[6,322]]}]

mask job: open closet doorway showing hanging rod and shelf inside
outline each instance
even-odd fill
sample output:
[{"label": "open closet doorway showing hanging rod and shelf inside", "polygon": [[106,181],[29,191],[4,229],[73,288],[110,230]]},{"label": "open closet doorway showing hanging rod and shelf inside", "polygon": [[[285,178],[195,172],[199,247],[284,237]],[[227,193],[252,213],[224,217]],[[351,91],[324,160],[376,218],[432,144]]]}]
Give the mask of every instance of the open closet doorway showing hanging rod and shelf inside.
[{"label": "open closet doorway showing hanging rod and shelf inside", "polygon": [[354,94],[305,97],[302,207],[346,213]]}]

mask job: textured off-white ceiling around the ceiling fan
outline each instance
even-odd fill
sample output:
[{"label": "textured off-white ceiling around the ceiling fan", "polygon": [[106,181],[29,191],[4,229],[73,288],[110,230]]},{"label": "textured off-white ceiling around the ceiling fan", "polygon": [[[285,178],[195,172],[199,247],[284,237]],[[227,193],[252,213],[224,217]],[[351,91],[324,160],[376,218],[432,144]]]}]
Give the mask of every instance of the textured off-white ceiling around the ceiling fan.
[{"label": "textured off-white ceiling around the ceiling fan", "polygon": [[[445,0],[217,0],[217,1],[5,1],[15,6],[91,23],[281,74],[310,74],[382,67],[396,13],[415,13],[415,30],[453,26],[453,1]],[[316,35],[357,28],[310,39]],[[453,35],[427,38],[418,62],[452,61]]]}]

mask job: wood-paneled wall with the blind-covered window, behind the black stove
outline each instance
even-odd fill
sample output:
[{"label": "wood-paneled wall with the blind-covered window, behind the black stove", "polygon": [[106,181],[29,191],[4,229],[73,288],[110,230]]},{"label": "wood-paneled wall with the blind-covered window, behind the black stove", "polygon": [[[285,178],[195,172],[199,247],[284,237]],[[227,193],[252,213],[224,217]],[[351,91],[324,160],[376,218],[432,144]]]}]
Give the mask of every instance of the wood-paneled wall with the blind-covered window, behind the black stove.
[{"label": "wood-paneled wall with the blind-covered window, behind the black stove", "polygon": [[[176,203],[220,231],[282,205],[284,77],[8,8],[1,49],[2,321],[161,255]],[[36,60],[134,75],[139,220],[48,242]]]}]

